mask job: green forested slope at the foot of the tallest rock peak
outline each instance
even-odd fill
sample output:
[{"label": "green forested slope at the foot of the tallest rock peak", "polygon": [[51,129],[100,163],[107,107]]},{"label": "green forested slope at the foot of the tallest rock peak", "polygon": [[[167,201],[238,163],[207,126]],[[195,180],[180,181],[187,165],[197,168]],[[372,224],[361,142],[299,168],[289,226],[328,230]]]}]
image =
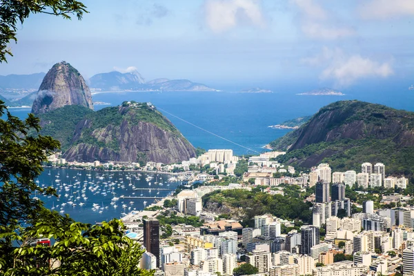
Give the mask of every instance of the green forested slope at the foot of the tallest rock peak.
[{"label": "green forested slope at the foot of the tallest rock peak", "polygon": [[66,150],[71,143],[75,127],[83,117],[93,113],[84,106],[63,106],[39,115],[43,128],[41,135],[51,136],[61,142],[61,150]]}]

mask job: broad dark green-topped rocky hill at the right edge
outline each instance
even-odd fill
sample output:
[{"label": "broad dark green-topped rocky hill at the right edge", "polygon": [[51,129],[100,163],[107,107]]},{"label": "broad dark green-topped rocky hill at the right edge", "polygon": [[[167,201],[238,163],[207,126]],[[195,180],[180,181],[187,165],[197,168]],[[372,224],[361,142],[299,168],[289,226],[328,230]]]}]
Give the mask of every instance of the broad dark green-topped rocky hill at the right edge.
[{"label": "broad dark green-topped rocky hill at the right edge", "polygon": [[335,169],[360,170],[360,164],[370,161],[386,164],[391,173],[412,174],[414,112],[337,101],[270,146],[288,150],[279,160],[296,166],[309,168],[328,162]]}]

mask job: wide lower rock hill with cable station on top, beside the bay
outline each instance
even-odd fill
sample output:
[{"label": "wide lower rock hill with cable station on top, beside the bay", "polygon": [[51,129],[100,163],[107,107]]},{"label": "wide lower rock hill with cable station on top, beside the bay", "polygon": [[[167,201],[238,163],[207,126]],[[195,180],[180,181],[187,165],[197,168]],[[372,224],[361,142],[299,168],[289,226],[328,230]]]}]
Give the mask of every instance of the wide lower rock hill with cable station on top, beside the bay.
[{"label": "wide lower rock hill with cable station on top, beside the bay", "polygon": [[68,161],[155,161],[175,163],[195,157],[195,148],[146,103],[103,108],[79,121]]}]

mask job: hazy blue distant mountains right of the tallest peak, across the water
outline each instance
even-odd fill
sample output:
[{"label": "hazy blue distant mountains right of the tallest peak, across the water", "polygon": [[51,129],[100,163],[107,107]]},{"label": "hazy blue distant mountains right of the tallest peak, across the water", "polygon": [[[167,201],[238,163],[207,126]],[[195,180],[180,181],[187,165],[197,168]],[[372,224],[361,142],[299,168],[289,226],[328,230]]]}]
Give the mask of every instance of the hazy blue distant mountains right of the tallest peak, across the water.
[{"label": "hazy blue distant mountains right of the tallest peak, across the water", "polygon": [[88,81],[90,88],[101,90],[164,90],[164,91],[217,91],[202,83],[188,79],[154,79],[145,81],[137,71],[117,71],[94,75]]}]

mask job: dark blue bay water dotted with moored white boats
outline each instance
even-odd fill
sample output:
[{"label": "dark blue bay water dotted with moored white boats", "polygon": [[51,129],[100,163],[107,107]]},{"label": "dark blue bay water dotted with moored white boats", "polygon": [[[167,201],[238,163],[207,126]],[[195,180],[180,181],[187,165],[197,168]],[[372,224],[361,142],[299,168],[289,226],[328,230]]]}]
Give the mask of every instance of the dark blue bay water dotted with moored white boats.
[{"label": "dark blue bay water dotted with moored white boats", "polygon": [[[146,180],[147,177],[153,177]],[[34,195],[45,202],[46,208],[67,213],[73,219],[95,224],[121,217],[123,213],[142,210],[156,199],[126,199],[132,197],[166,197],[179,182],[169,182],[170,175],[142,172],[99,172],[45,168],[37,179],[39,186],[52,186],[59,197]],[[157,182],[157,184],[155,183]],[[146,190],[139,190],[145,188]],[[159,189],[171,190],[159,190]],[[150,189],[150,190],[148,190]],[[94,208],[95,204],[95,208]]]}]

